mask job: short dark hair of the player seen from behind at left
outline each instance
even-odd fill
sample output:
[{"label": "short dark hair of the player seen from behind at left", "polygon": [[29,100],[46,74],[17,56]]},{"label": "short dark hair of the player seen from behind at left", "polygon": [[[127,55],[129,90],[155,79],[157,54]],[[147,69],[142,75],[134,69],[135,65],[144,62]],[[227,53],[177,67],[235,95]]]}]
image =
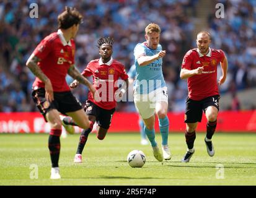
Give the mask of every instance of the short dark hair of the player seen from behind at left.
[{"label": "short dark hair of the player seen from behind at left", "polygon": [[74,24],[81,24],[82,15],[74,7],[65,7],[65,11],[58,15],[58,28],[68,29]]}]

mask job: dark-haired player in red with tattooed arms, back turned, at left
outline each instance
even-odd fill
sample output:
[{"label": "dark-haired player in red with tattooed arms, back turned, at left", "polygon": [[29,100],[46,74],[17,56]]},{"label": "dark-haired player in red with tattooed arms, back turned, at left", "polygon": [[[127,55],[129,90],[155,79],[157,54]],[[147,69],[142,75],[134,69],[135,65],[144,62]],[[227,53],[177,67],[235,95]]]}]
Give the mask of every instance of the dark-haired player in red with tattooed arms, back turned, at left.
[{"label": "dark-haired player in red with tattooed arms, back turned, at left", "polygon": [[81,103],[73,96],[66,83],[66,75],[97,91],[90,82],[74,67],[75,44],[73,38],[82,22],[82,15],[76,9],[66,7],[58,15],[58,32],[44,38],[27,61],[30,71],[36,76],[33,82],[33,101],[40,113],[50,123],[48,148],[51,157],[51,179],[60,179],[58,165],[60,157],[61,119],[60,113],[68,114],[83,129],[90,126],[89,119],[82,110]]}]

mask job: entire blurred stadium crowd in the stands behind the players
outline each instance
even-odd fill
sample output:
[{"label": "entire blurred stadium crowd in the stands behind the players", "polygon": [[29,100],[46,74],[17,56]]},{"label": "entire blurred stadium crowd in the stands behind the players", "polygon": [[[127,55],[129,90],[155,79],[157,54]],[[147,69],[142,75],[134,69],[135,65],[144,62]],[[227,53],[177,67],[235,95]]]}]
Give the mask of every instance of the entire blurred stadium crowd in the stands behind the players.
[{"label": "entire blurred stadium crowd in the stands behind the players", "polygon": [[[76,38],[79,71],[91,59],[99,58],[96,41],[103,36],[115,39],[113,57],[125,64],[128,71],[134,62],[136,43],[144,41],[144,28],[149,22],[159,24],[161,45],[167,50],[163,72],[169,90],[169,110],[185,110],[187,81],[180,80],[179,72],[184,54],[196,47],[198,30],[194,21],[199,1],[41,0],[37,2],[38,19],[29,15],[29,5],[34,1],[0,1],[0,111],[37,111],[30,97],[34,77],[25,62],[40,40],[56,31],[56,19],[64,6],[74,6],[84,15]],[[229,61],[227,81],[221,93],[235,95],[238,90],[256,87],[256,1],[218,2],[224,4],[225,16],[217,19],[215,6],[209,8],[211,47],[223,49]],[[80,101],[86,100],[86,87],[81,85],[73,92]],[[118,111],[135,111],[135,108],[132,102],[121,102]]]}]

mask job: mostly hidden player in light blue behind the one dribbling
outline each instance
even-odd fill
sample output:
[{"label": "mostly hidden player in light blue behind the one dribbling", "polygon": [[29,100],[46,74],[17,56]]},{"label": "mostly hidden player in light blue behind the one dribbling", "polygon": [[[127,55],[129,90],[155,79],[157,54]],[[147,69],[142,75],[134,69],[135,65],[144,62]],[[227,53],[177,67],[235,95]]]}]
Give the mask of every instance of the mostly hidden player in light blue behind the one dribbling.
[{"label": "mostly hidden player in light blue behind the one dribbling", "polygon": [[[134,80],[135,80],[135,76],[136,76],[136,66],[135,64],[133,64],[129,71],[128,71],[128,76],[129,76],[129,83],[133,84]],[[147,136],[146,133],[144,131],[144,123],[143,120],[141,119],[141,117],[139,116],[139,132],[141,134],[141,145],[147,145],[148,144],[148,140],[147,140]]]}]

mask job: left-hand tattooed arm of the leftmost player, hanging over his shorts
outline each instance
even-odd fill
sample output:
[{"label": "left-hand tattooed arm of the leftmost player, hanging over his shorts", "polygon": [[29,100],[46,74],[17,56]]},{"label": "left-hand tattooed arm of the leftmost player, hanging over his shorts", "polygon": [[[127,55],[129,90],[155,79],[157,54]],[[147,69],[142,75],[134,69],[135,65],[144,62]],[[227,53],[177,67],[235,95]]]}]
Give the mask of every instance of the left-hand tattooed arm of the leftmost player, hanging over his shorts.
[{"label": "left-hand tattooed arm of the leftmost player, hanging over his shorts", "polygon": [[26,65],[29,67],[30,71],[38,77],[38,79],[42,80],[45,83],[45,98],[48,101],[53,101],[53,86],[51,85],[51,80],[43,74],[43,71],[38,67],[37,63],[40,59],[32,54],[30,58],[27,60]]}]

